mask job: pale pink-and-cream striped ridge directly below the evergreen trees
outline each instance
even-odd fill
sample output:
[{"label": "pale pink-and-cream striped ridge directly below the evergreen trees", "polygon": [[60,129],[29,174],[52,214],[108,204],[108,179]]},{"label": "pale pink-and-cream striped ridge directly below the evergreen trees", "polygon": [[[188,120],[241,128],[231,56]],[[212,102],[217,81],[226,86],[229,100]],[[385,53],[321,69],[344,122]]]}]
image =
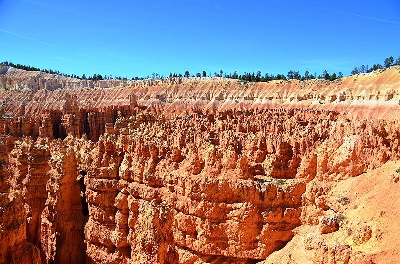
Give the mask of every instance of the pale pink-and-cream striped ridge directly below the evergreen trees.
[{"label": "pale pink-and-cream striped ridge directly below the evergreen trees", "polygon": [[[3,100],[0,114],[8,116],[62,110],[65,94],[69,93],[76,94],[80,109],[99,111],[110,106],[131,105],[130,95],[134,94],[142,112],[151,112],[156,117],[162,114],[167,119],[193,113],[215,115],[227,109],[278,107],[335,110],[345,113],[351,120],[399,117],[399,66],[335,81],[275,80],[262,83],[221,77],[80,81],[11,67],[4,71],[0,75]],[[51,89],[33,85],[30,84],[32,78],[34,82],[40,79],[57,84]],[[28,88],[29,85],[34,88]]]}]

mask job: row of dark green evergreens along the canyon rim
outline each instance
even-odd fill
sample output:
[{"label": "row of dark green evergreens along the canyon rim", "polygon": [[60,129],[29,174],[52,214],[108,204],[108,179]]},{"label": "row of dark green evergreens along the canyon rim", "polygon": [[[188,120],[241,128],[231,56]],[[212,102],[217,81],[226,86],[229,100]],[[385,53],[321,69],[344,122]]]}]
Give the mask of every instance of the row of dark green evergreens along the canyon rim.
[{"label": "row of dark green evergreens along the canyon rim", "polygon": [[[7,65],[7,66],[11,66],[17,69],[23,69],[23,70],[27,70],[27,71],[42,71],[42,72],[46,72],[46,73],[51,73],[51,74],[57,74],[57,75],[61,75],[61,76],[65,76],[65,77],[71,77],[71,78],[77,78],[77,79],[81,79],[81,80],[93,80],[93,81],[100,81],[100,80],[112,80],[112,79],[118,79],[118,80],[128,80],[127,77],[120,77],[120,76],[115,76],[112,77],[112,75],[107,76],[104,75],[104,77],[100,74],[94,74],[93,76],[89,76],[86,77],[85,74],[82,75],[82,77],[77,76],[76,74],[64,74],[64,73],[60,73],[59,71],[56,70],[40,70],[39,68],[36,67],[31,67],[26,66],[26,65],[21,65],[21,64],[14,64],[12,62],[5,61],[5,62],[1,62],[0,64],[2,65]],[[392,66],[396,66],[396,65],[400,65],[400,56],[397,58],[397,60],[394,61],[393,57],[389,57],[386,58],[383,66],[378,64],[374,64],[371,68],[365,65],[362,65],[361,67],[354,67],[354,70],[351,71],[351,75],[356,75],[356,74],[360,74],[360,73],[368,73],[368,72],[372,72],[374,70],[378,70],[378,69],[384,69],[384,68],[389,68]],[[190,72],[188,70],[186,70],[185,74],[182,75],[181,73],[176,74],[176,73],[169,73],[169,77],[207,77],[207,72],[206,71],[202,71],[202,72],[197,72],[195,75],[194,74],[190,74]],[[212,73],[210,72],[208,76],[212,76]],[[220,70],[219,73],[215,72],[213,74],[213,76],[216,77],[225,77],[225,78],[231,78],[231,79],[237,79],[237,80],[242,80],[242,81],[246,81],[246,82],[268,82],[268,81],[273,81],[273,80],[300,80],[300,81],[305,81],[305,80],[312,80],[312,79],[325,79],[325,80],[330,80],[330,81],[334,81],[336,79],[341,79],[343,77],[343,73],[339,72],[337,75],[336,73],[333,73],[332,75],[329,74],[329,72],[327,70],[324,70],[322,72],[321,75],[317,76],[317,73],[315,72],[314,74],[310,74],[309,71],[305,71],[304,75],[301,75],[299,71],[292,71],[290,70],[289,72],[287,72],[287,75],[285,74],[277,74],[276,76],[273,74],[268,74],[266,73],[265,75],[262,75],[260,71],[257,71],[257,73],[255,74],[254,72],[250,73],[250,72],[244,72],[243,75],[238,75],[237,71],[234,71],[233,74],[229,73],[226,74],[223,72],[223,70]],[[152,76],[147,75],[146,77],[132,77],[131,80],[143,80],[143,79],[164,79],[164,76],[159,74],[159,73],[153,73]],[[166,77],[165,77],[166,78]]]}]

